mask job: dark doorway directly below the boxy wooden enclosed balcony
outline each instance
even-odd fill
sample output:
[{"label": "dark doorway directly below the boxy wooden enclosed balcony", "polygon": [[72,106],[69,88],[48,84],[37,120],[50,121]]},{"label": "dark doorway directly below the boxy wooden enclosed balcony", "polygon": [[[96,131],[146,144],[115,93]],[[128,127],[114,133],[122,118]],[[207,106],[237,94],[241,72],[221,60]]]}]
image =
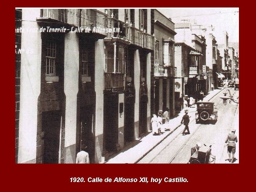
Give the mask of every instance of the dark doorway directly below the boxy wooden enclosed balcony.
[{"label": "dark doorway directly below the boxy wooden enclosed balcony", "polygon": [[104,139],[107,151],[117,150],[118,94],[104,95]]}]

